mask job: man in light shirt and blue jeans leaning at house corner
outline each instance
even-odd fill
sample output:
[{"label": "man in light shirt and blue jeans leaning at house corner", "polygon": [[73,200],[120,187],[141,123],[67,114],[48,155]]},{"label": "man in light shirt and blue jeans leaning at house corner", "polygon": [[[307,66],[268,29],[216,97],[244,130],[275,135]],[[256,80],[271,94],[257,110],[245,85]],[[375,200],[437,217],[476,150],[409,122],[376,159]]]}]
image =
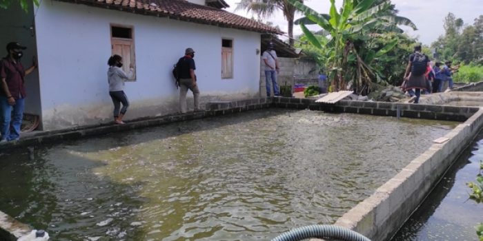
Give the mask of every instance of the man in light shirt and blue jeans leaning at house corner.
[{"label": "man in light shirt and blue jeans leaning at house corner", "polygon": [[268,48],[264,51],[262,59],[265,63],[266,96],[270,97],[270,93],[272,92],[270,82],[273,84],[273,95],[280,96],[280,90],[277,83],[277,74],[279,73],[278,59],[277,53],[273,49],[273,43],[268,43]]}]

